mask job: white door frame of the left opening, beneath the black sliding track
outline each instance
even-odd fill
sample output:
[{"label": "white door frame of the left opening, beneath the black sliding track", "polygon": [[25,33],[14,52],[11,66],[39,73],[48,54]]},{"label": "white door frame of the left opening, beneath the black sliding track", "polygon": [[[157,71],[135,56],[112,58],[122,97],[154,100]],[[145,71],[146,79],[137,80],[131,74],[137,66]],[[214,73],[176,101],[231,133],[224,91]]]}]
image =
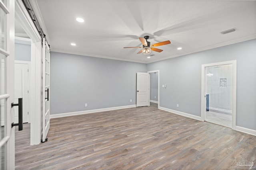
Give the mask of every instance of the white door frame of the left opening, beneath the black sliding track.
[{"label": "white door frame of the left opening, beneath the black sliding track", "polygon": [[41,59],[42,38],[22,0],[15,0],[15,19],[31,39],[30,81],[30,145],[41,143]]}]

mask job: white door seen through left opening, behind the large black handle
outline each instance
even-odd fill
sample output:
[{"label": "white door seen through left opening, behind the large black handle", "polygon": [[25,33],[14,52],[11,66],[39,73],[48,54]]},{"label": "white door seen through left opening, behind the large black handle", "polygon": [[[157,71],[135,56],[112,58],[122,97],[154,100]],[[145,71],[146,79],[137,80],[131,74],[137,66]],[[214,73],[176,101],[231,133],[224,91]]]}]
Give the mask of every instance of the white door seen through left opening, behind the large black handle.
[{"label": "white door seen through left opening, behind the large black handle", "polygon": [[[14,103],[23,98],[23,123],[28,123],[28,64],[14,63]],[[18,123],[18,107],[14,107],[14,123]]]}]

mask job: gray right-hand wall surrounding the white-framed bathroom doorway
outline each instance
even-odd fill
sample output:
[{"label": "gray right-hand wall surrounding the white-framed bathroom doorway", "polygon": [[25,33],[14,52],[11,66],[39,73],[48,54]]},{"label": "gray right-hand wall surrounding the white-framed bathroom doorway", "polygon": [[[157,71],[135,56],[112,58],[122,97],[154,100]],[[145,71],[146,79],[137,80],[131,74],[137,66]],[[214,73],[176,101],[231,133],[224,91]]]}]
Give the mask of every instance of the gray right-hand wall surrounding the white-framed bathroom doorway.
[{"label": "gray right-hand wall surrounding the white-framed bathroom doorway", "polygon": [[[256,130],[256,39],[147,64],[160,70],[160,107],[201,115],[202,64],[237,61],[236,125]],[[179,104],[179,107],[176,107]]]}]

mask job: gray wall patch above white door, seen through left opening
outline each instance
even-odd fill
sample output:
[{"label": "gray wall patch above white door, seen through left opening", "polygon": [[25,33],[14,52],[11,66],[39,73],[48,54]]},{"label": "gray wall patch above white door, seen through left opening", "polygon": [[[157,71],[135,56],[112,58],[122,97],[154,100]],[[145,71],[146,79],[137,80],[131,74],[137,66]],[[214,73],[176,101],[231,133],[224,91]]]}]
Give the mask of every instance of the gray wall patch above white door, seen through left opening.
[{"label": "gray wall patch above white door, seen through left opening", "polygon": [[15,60],[31,61],[31,43],[15,40]]}]

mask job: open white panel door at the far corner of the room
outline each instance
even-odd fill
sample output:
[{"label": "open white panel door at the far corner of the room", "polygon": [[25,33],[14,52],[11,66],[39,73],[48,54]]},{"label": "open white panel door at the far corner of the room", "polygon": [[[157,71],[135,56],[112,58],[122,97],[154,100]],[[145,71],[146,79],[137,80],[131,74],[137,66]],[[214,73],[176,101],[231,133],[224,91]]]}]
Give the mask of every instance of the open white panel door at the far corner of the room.
[{"label": "open white panel door at the far corner of the room", "polygon": [[150,75],[147,72],[137,72],[136,107],[150,106]]}]

